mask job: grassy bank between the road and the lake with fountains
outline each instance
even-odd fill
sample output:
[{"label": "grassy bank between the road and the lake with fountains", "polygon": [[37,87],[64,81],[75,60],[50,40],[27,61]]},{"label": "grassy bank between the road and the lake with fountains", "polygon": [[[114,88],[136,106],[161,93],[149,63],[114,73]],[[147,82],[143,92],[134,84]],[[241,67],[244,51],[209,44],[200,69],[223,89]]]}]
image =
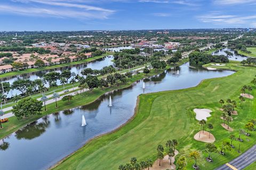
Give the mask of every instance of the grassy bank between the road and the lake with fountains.
[{"label": "grassy bank between the road and the lake with fountains", "polygon": [[[187,61],[188,60],[185,59],[182,62],[179,62],[178,65],[181,65],[181,64],[183,64]],[[170,67],[171,66],[167,66],[167,68],[170,68]],[[59,112],[59,111],[64,111],[66,109],[70,109],[70,108],[74,108],[74,107],[78,107],[78,106],[83,106],[83,105],[90,104],[93,101],[97,100],[101,95],[105,94],[106,92],[129,87],[129,86],[131,86],[131,84],[133,82],[135,82],[137,80],[162,73],[163,71],[164,70],[150,70],[150,73],[147,74],[147,75],[144,74],[144,73],[140,73],[138,75],[135,75],[135,77],[133,76],[131,79],[127,79],[128,81],[125,84],[121,84],[121,86],[119,86],[119,87],[112,86],[112,87],[108,87],[108,88],[103,88],[103,90],[98,88],[98,89],[94,89],[92,93],[83,92],[82,94],[75,95],[74,99],[70,102],[70,104],[60,100],[60,101],[58,101],[58,106],[59,106],[58,108],[55,108],[55,103],[51,103],[49,105],[46,105],[47,111],[43,111],[42,115],[39,115],[39,116],[33,116],[33,117],[22,119],[22,120],[17,120],[16,117],[10,117],[9,122],[4,123],[3,124],[4,128],[0,129],[0,139],[6,137],[7,135],[11,134],[12,132],[17,131],[22,126],[25,126],[26,124],[28,124],[30,122],[34,122],[38,118],[41,118],[45,115],[55,113],[55,112]],[[86,94],[87,94],[87,96],[86,96]]]}]

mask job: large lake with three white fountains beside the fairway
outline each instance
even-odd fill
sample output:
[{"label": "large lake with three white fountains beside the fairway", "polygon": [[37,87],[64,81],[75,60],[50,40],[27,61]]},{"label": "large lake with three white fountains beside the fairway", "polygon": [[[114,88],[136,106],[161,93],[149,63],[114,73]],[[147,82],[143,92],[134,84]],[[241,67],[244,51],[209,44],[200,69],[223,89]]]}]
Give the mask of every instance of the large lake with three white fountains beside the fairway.
[{"label": "large lake with three white fountains beside the fairway", "polygon": [[[233,73],[192,68],[187,63],[175,70],[135,82],[129,88],[103,95],[90,105],[41,118],[2,140],[1,169],[46,169],[81,148],[86,141],[110,132],[129,120],[134,113],[138,95],[189,88],[203,79],[225,77]],[[143,81],[146,83],[145,90],[142,89]],[[108,106],[109,95],[113,101],[111,108]],[[87,122],[84,127],[81,126],[82,115]]]}]

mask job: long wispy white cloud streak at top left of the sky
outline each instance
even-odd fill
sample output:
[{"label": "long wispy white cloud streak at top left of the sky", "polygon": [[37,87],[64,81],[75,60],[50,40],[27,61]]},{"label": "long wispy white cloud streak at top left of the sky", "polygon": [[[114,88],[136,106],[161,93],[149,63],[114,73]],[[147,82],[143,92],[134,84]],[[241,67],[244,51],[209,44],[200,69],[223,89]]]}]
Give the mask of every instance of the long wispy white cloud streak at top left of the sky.
[{"label": "long wispy white cloud streak at top left of the sky", "polygon": [[[106,19],[114,10],[81,4],[81,0],[12,0],[13,5],[0,5],[0,12],[28,16],[59,18]],[[23,3],[22,5],[20,3]],[[46,6],[41,7],[44,4]]]}]

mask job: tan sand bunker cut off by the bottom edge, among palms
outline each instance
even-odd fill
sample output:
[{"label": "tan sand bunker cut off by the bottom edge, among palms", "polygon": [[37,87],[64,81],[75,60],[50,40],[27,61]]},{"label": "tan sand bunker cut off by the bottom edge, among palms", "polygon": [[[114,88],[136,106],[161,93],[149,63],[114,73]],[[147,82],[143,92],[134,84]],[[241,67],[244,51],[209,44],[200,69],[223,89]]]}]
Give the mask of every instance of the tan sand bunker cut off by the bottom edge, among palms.
[{"label": "tan sand bunker cut off by the bottom edge, among palms", "polygon": [[[179,154],[178,150],[175,150],[174,153],[175,153],[175,156],[176,156],[177,154]],[[174,157],[175,157],[175,156],[174,156]],[[153,164],[153,166],[150,167],[149,169],[150,169],[150,170],[153,170],[153,169],[154,169],[154,170],[176,169],[176,166],[173,164],[173,163],[174,163],[174,160],[175,160],[174,157],[172,157],[172,165],[170,165],[169,156],[166,155],[166,156],[164,157],[164,159],[161,160],[161,166],[159,166],[159,159],[157,159],[157,160],[155,161],[155,163]],[[148,169],[148,168],[147,168],[147,169]]]}]

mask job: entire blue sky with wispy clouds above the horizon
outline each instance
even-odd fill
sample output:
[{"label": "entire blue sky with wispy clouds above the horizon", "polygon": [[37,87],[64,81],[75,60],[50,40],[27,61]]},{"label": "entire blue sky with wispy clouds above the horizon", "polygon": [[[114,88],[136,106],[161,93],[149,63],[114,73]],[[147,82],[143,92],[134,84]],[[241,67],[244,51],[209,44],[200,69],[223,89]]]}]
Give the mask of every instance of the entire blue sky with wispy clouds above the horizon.
[{"label": "entire blue sky with wispy clouds above the horizon", "polygon": [[255,28],[256,0],[1,0],[0,31]]}]

